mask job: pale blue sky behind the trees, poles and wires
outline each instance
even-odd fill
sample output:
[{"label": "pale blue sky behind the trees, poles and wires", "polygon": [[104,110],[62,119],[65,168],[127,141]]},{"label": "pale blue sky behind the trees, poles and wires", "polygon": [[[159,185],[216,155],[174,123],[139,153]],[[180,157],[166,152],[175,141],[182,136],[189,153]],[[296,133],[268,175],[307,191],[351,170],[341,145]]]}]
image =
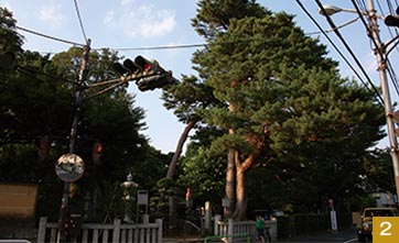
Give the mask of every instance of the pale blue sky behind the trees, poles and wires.
[{"label": "pale blue sky behind the trees, poles and wires", "polygon": [[[85,34],[91,40],[91,48],[140,48],[148,46],[203,44],[204,41],[191,26],[191,19],[196,14],[197,0],[77,0],[79,13],[83,21]],[[295,14],[294,21],[305,33],[317,32],[319,29],[301,10],[295,0],[260,0],[263,7],[278,12],[285,11]],[[322,1],[324,4],[331,3],[341,8],[353,9],[352,1],[330,0]],[[330,26],[324,16],[317,13],[317,5],[314,0],[302,0],[308,11],[323,26]],[[382,12],[388,13],[382,3]],[[13,12],[18,26],[51,35],[57,38],[67,40],[75,43],[84,43],[84,34],[77,18],[74,0],[0,0],[1,7],[7,7]],[[378,5],[376,5],[377,8]],[[356,15],[354,13],[337,13],[333,15],[336,25],[343,24]],[[391,35],[387,32],[384,23],[381,25],[381,40],[387,42]],[[359,21],[341,29],[342,35],[347,40],[362,65],[369,73],[376,85],[379,85],[378,73],[376,71],[376,58],[370,48],[370,42],[365,33],[365,27]],[[31,33],[20,31],[25,36],[23,48],[39,51],[42,53],[58,53],[66,51],[71,45],[44,38]],[[343,76],[353,76],[342,58],[328,44],[322,34],[312,35],[320,37],[322,43],[328,46],[332,58],[342,63],[341,73]],[[330,33],[332,40],[344,52],[347,52],[334,33]],[[191,75],[195,71],[191,68],[192,53],[196,48],[168,48],[168,49],[130,49],[119,51],[125,57],[134,58],[142,55],[148,58],[159,60],[162,67],[173,71],[174,77]],[[398,55],[393,53],[392,55]],[[395,57],[393,57],[395,58]],[[354,63],[354,62],[352,62]],[[392,101],[397,100],[392,90]],[[136,93],[136,104],[142,107],[147,112],[147,125],[144,131],[150,139],[150,143],[164,153],[174,151],[179,136],[184,129],[184,124],[177,122],[172,111],[168,111],[162,106],[161,91],[140,92],[134,84],[129,86],[129,91]],[[385,141],[381,146],[387,145]]]}]

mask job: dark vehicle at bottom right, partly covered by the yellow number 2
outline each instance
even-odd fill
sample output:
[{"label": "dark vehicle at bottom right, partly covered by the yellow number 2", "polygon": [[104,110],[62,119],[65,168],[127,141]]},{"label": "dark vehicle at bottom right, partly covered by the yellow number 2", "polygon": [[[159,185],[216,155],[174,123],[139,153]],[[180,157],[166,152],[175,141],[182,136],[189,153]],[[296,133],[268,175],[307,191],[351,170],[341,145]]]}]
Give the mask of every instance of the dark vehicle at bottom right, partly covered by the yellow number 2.
[{"label": "dark vehicle at bottom right, partly covered by the yellow number 2", "polygon": [[396,217],[396,208],[365,208],[362,216],[360,228],[357,229],[357,239],[359,242],[366,240],[373,241],[373,217]]}]

